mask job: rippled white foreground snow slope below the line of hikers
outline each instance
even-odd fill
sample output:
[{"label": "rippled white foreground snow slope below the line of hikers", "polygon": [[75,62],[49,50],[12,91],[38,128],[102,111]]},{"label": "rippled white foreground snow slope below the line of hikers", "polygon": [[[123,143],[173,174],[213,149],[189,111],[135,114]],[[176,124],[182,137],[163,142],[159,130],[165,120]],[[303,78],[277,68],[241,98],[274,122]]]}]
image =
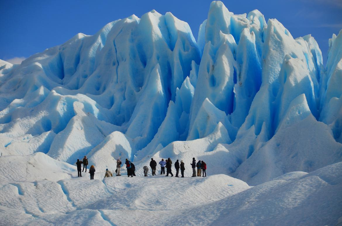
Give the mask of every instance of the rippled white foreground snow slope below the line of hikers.
[{"label": "rippled white foreground snow slope below the line of hikers", "polygon": [[[14,161],[23,162],[20,157]],[[336,225],[342,216],[341,175],[342,163],[337,163],[254,187],[224,174],[103,179],[104,171],[96,171],[93,181],[84,175],[57,182],[3,182],[0,224],[153,225],[162,218],[165,225]]]}]

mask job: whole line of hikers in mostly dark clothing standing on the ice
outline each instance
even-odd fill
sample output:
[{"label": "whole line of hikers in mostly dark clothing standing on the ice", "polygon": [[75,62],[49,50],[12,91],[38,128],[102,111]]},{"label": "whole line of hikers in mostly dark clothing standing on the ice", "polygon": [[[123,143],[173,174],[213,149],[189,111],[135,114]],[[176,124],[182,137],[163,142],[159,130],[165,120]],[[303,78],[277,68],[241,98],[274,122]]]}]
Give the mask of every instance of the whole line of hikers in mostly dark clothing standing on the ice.
[{"label": "whole line of hikers in mostly dark clothing standing on the ice", "polygon": [[[83,164],[83,169],[81,167],[82,164]],[[135,176],[134,164],[130,160],[128,160],[127,158],[126,158],[126,161],[124,164],[126,165],[127,176],[128,177]],[[82,172],[83,172],[84,168],[86,168],[86,172],[87,172],[87,166],[88,166],[87,156],[84,156],[82,161],[77,159],[76,165],[77,165],[77,173],[78,173],[78,176],[80,177],[80,176],[82,176]],[[116,170],[115,170],[117,176],[121,176],[121,165],[122,165],[121,159],[118,158],[116,161]],[[166,159],[165,161],[162,158],[161,161],[159,162],[159,165],[161,168],[160,175],[165,174],[165,167],[166,167],[166,175],[165,176],[169,176],[169,174],[171,174],[171,176],[173,176],[172,160],[170,158]],[[192,169],[193,169],[192,177],[195,177],[195,176],[205,177],[205,176],[207,176],[207,173],[206,173],[207,164],[204,161],[198,160],[198,162],[196,163],[196,159],[193,158],[193,161],[192,161],[192,163],[190,163],[190,165],[192,166]],[[156,175],[157,162],[153,158],[151,158],[150,167],[152,169],[152,176]],[[179,163],[179,160],[177,159],[177,161],[174,163],[174,168],[176,169],[175,177],[179,177],[178,176],[179,170],[181,170],[181,175],[182,175],[181,177],[184,178],[185,166],[184,166],[183,160],[181,160],[181,163]],[[196,172],[196,168],[197,168],[197,172]],[[81,171],[81,169],[82,169],[82,171]],[[144,176],[147,176],[148,167],[144,166],[143,170],[144,170]],[[89,168],[89,173],[90,173],[90,180],[93,180],[94,174],[95,174],[95,167],[93,165],[91,165],[91,167]],[[104,178],[109,177],[109,176],[113,176],[113,174],[108,169],[106,169]]]}]

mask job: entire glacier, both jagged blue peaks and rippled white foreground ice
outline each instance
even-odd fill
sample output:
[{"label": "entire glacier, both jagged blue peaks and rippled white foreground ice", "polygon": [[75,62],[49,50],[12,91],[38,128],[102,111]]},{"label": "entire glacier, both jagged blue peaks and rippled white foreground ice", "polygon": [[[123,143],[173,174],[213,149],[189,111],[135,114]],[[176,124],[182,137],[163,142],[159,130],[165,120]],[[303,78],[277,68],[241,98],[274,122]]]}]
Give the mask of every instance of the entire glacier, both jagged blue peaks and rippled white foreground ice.
[{"label": "entire glacier, both jagged blue peaks and rippled white foreground ice", "polygon": [[[186,22],[152,10],[108,23],[93,36],[76,34],[20,65],[0,60],[0,163],[21,175],[1,175],[0,223],[67,225],[87,216],[96,225],[122,225],[124,210],[132,209],[135,224],[153,224],[169,210],[170,221],[200,225],[317,219],[336,225],[342,222],[341,85],[342,30],[329,40],[324,65],[310,34],[293,38],[278,20],[266,23],[258,10],[236,15],[220,1],[210,4],[197,39]],[[87,184],[93,193],[84,196],[96,198],[82,203],[77,194],[86,178],[75,181],[75,162],[85,155],[95,179],[106,168],[113,172],[119,157],[137,169],[150,158],[183,159],[186,177],[195,157],[211,176],[183,185],[174,178],[94,180]],[[166,201],[186,211],[162,208],[149,194],[163,197],[160,183],[183,190]],[[186,196],[195,186],[202,196]],[[148,212],[153,202],[156,211]],[[207,208],[215,217],[198,214]],[[319,214],[290,217],[299,210]],[[152,218],[134,219],[144,214]]]}]

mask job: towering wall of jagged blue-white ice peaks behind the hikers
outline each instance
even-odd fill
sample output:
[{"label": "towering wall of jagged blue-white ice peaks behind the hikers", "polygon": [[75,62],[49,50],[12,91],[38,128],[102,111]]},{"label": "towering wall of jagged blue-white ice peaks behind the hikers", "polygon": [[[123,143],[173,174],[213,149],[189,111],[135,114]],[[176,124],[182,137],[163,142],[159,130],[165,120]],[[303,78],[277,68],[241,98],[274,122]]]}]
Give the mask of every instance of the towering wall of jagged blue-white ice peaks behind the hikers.
[{"label": "towering wall of jagged blue-white ice peaks behind the hikers", "polygon": [[99,170],[196,157],[252,185],[312,172],[342,161],[342,32],[329,46],[324,67],[311,35],[220,1],[197,43],[171,13],[116,20],[0,61],[0,152]]}]

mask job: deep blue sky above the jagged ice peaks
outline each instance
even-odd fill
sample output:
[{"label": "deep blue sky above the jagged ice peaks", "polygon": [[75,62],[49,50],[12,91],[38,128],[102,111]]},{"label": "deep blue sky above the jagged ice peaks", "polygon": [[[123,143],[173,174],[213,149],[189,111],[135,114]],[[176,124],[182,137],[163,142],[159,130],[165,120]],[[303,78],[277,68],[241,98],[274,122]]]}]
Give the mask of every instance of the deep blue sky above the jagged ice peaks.
[{"label": "deep blue sky above the jagged ice peaks", "polygon": [[[0,0],[0,59],[18,62],[46,48],[60,45],[76,33],[94,34],[105,24],[132,14],[141,17],[155,9],[171,12],[187,22],[197,39],[207,18],[207,0]],[[294,38],[312,34],[327,58],[328,39],[342,29],[342,0],[224,1],[234,14],[258,9],[278,19]]]}]

